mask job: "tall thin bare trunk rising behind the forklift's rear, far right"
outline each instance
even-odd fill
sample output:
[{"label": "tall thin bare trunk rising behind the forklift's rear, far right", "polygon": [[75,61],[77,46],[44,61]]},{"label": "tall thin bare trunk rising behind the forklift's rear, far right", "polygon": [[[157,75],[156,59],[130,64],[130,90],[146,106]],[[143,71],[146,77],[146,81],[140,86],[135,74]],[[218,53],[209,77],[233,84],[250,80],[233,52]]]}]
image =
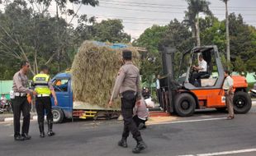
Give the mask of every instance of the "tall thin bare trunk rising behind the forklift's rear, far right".
[{"label": "tall thin bare trunk rising behind the forklift's rear, far right", "polygon": [[226,38],[226,59],[227,67],[230,70],[230,30],[229,30],[229,14],[228,14],[228,1],[229,0],[220,0],[225,2],[225,38]]}]

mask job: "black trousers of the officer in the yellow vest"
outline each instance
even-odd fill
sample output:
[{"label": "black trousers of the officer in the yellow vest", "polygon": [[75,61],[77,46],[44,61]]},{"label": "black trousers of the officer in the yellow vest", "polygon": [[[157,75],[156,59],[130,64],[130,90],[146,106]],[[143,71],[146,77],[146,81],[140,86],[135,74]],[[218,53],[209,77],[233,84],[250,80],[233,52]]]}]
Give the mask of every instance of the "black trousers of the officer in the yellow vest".
[{"label": "black trousers of the officer in the yellow vest", "polygon": [[48,122],[53,121],[53,114],[51,112],[50,97],[36,97],[36,112],[37,122],[43,124],[45,121],[45,112]]}]

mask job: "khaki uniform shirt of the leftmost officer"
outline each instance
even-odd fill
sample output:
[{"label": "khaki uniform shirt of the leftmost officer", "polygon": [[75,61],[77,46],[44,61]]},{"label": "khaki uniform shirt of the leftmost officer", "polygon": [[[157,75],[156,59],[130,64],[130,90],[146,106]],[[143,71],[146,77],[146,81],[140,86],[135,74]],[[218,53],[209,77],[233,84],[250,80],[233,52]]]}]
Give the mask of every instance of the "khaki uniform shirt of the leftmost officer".
[{"label": "khaki uniform shirt of the leftmost officer", "polygon": [[31,90],[28,89],[27,77],[22,71],[17,71],[17,73],[15,73],[15,75],[13,76],[12,90],[15,93],[31,93]]}]

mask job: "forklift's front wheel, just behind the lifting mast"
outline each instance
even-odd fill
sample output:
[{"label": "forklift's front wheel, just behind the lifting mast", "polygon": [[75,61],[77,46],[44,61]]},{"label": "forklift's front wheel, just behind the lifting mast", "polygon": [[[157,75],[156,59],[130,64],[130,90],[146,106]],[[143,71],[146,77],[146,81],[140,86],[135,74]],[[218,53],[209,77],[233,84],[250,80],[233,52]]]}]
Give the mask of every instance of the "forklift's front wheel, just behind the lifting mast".
[{"label": "forklift's front wheel, just behind the lifting mast", "polygon": [[175,111],[181,117],[189,117],[195,112],[196,101],[191,94],[179,94],[175,99]]}]

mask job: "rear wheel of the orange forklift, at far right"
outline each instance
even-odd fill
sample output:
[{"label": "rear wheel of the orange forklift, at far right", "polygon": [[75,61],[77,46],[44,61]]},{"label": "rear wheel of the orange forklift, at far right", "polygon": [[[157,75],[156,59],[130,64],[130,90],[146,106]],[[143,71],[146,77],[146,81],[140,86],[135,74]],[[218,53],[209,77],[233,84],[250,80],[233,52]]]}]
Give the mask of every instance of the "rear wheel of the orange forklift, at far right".
[{"label": "rear wheel of the orange forklift, at far right", "polygon": [[238,91],[235,93],[233,104],[235,113],[244,114],[249,112],[252,107],[252,100],[249,98],[248,93]]}]

